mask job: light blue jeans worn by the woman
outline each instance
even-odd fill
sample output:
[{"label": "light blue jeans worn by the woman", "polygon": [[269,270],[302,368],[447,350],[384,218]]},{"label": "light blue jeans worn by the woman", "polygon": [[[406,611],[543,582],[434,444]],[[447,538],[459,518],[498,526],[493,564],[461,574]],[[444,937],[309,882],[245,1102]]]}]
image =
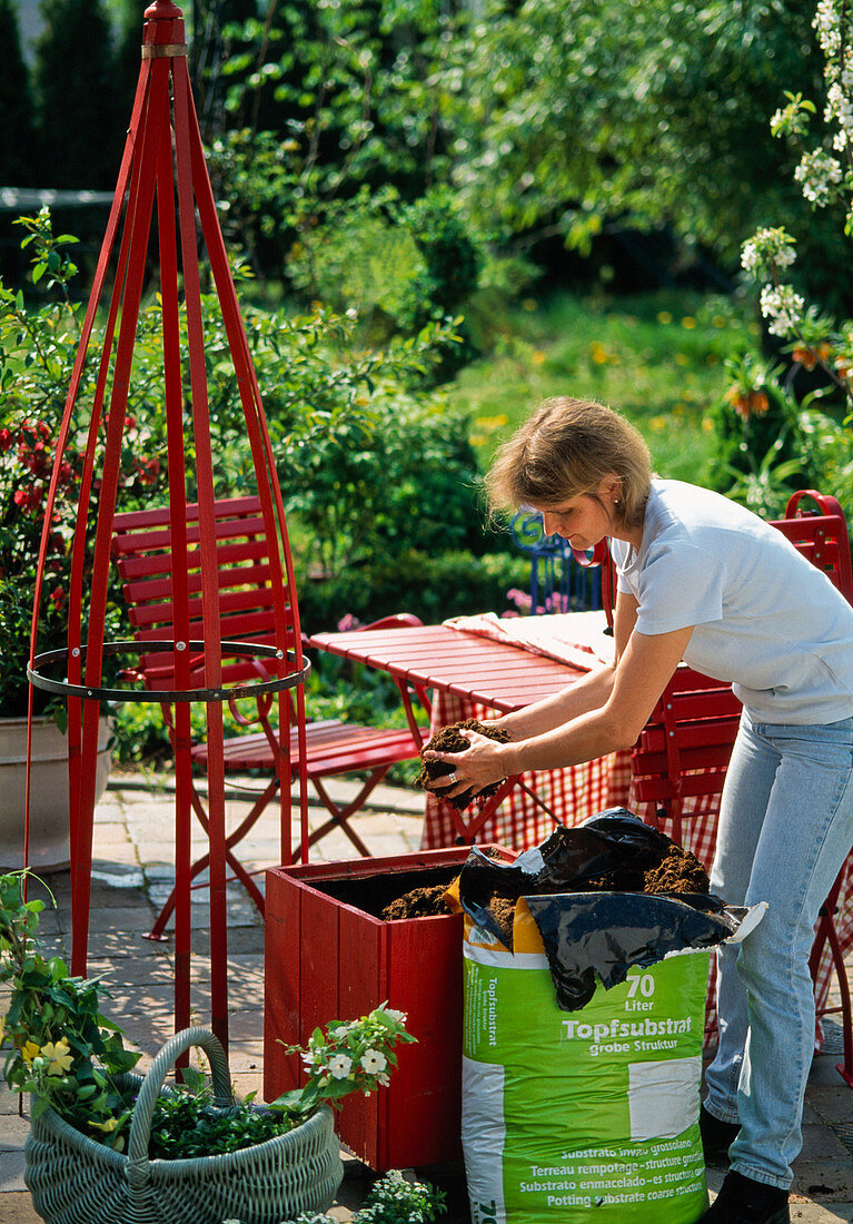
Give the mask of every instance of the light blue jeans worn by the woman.
[{"label": "light blue jeans worn by the woman", "polygon": [[720,1045],[706,1106],[740,1122],[732,1169],[787,1190],[814,1054],[809,952],[818,911],[853,845],[853,718],[753,723],[744,712],[721,800],[711,890],[767,901],[739,947],[718,951]]}]

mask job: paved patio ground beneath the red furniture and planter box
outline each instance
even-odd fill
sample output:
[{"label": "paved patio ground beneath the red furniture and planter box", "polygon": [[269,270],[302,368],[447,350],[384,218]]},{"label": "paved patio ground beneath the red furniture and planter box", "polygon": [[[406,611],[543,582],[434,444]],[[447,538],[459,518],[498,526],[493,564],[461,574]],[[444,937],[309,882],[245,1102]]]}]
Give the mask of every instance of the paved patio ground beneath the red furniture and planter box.
[{"label": "paved patio ground beneath the red furniture and planter box", "polygon": [[[339,783],[337,792],[341,794],[346,789],[346,783]],[[354,820],[354,826],[371,851],[384,856],[417,849],[422,793],[379,788],[372,803],[370,813]],[[230,800],[229,809],[230,819],[236,819],[245,810],[245,800]],[[322,813],[312,809],[312,821],[322,819]],[[244,842],[241,858],[252,867],[274,865],[278,860],[274,820],[259,821],[256,830]],[[151,942],[143,935],[169,892],[173,838],[174,798],[168,783],[163,785],[159,778],[141,780],[138,775],[115,776],[95,813],[89,972],[108,976],[113,998],[106,1010],[122,1026],[130,1043],[143,1051],[141,1070],[171,1036],[171,944],[169,940]],[[327,860],[352,857],[350,843],[339,834],[324,838],[316,851],[319,853],[312,857]],[[42,934],[49,952],[69,956],[69,873],[53,873],[48,883],[58,907],[43,913]],[[196,897],[193,929],[198,935],[195,942],[199,955],[192,969],[193,1021],[208,1024],[204,891],[199,890]],[[231,1077],[239,1097],[252,1091],[257,1091],[259,1097],[263,928],[242,889],[229,885],[228,907]],[[849,966],[853,974],[853,957]],[[797,1162],[791,1198],[791,1217],[798,1224],[853,1222],[853,1089],[844,1086],[835,1070],[837,1028],[829,1024],[827,1036],[829,1048],[815,1058],[806,1093],[805,1144]],[[23,1184],[23,1143],[28,1129],[26,1110],[23,1118],[18,1116],[18,1098],[0,1086],[2,1224],[35,1224],[39,1219]],[[370,1186],[371,1173],[359,1160],[346,1153],[343,1155],[346,1174],[332,1213],[348,1220]],[[447,1191],[448,1224],[465,1224],[467,1207],[461,1168],[417,1171]],[[712,1191],[716,1191],[722,1176],[721,1169],[709,1170]]]}]

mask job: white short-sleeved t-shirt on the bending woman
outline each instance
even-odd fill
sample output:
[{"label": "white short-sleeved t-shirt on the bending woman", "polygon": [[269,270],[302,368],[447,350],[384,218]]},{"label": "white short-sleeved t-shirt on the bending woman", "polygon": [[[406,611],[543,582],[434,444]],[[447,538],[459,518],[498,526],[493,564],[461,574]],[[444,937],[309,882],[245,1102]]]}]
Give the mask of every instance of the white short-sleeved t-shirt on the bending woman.
[{"label": "white short-sleeved t-shirt on the bending woman", "polygon": [[636,630],[695,625],[684,661],[733,681],[755,721],[853,716],[853,607],[776,528],[720,493],[655,480],[639,553],[623,540],[611,551]]}]

